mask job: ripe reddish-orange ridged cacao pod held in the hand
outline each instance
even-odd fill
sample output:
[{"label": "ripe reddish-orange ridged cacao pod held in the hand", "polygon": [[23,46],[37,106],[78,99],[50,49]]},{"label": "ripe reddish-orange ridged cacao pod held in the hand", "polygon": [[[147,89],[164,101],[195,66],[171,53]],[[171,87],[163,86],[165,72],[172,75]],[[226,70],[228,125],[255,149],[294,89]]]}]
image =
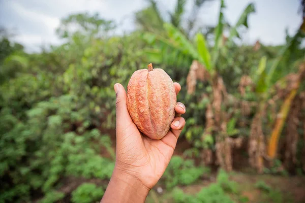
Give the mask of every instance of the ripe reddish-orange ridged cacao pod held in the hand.
[{"label": "ripe reddish-orange ridged cacao pod held in the hand", "polygon": [[127,107],[138,129],[154,140],[162,139],[175,117],[176,92],[162,69],[135,71],[127,87]]}]

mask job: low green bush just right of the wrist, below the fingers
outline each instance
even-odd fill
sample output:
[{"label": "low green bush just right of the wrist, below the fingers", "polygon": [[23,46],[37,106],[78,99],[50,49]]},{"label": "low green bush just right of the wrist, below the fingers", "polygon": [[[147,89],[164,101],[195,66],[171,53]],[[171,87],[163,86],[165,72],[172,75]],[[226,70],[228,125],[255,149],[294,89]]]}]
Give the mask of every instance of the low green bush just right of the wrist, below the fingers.
[{"label": "low green bush just right of the wrist, below the fingers", "polygon": [[196,167],[194,160],[182,159],[179,156],[173,156],[162,177],[167,189],[176,185],[190,185],[196,182],[202,175],[208,174],[209,168]]}]

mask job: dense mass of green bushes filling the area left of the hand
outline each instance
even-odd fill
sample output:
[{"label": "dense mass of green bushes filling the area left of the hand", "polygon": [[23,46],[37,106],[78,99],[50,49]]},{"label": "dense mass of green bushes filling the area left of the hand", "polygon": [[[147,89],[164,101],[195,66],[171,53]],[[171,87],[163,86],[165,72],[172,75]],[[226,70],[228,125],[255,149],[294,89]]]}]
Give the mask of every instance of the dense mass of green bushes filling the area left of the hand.
[{"label": "dense mass of green bushes filling the area left of the hand", "polygon": [[142,41],[139,33],[88,37],[105,21],[87,14],[67,19],[83,27],[69,32],[67,44],[40,54],[14,52],[1,64],[7,70],[21,65],[12,76],[2,72],[9,80],[0,86],[0,199],[5,202],[31,202],[33,191],[53,202],[66,195],[59,191],[67,177],[111,177],[115,155],[107,132],[115,124],[113,85],[126,86],[132,73],[146,66],[141,52],[133,51],[141,50]]}]

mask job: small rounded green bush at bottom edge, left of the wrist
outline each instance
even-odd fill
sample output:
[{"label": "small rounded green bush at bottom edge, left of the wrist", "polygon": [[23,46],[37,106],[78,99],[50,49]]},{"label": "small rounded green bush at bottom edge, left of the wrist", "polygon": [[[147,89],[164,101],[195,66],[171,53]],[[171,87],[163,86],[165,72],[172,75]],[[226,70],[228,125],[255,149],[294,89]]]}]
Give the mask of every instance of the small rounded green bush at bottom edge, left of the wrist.
[{"label": "small rounded green bush at bottom edge, left of the wrist", "polygon": [[72,192],[73,203],[91,203],[101,200],[104,190],[92,183],[83,183]]}]

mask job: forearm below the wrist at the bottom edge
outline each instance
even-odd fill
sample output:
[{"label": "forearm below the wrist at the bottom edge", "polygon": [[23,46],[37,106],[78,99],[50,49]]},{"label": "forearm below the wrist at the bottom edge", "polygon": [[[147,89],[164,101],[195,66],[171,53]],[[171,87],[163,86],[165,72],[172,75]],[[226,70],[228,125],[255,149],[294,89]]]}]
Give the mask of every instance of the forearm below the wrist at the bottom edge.
[{"label": "forearm below the wrist at the bottom edge", "polygon": [[115,168],[101,203],[144,202],[149,190],[137,178]]}]

